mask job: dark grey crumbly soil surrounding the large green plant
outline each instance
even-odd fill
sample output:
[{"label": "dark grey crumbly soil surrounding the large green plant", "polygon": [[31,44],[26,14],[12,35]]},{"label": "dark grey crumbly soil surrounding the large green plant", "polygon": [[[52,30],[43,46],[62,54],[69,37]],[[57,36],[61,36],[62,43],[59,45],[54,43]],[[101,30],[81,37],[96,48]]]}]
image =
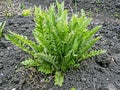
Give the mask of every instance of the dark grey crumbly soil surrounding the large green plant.
[{"label": "dark grey crumbly soil surrounding the large green plant", "polygon": [[[24,2],[25,7],[34,4],[48,7],[56,0],[13,0],[12,7]],[[74,0],[65,1],[65,8],[75,11]],[[0,90],[120,90],[120,0],[76,0],[77,10],[84,9],[88,16],[93,17],[89,28],[103,25],[96,36],[102,39],[96,43],[96,49],[105,49],[103,55],[81,62],[78,69],[70,69],[65,74],[62,87],[54,85],[53,76],[46,76],[37,72],[35,68],[26,69],[20,64],[25,58],[30,57],[3,36],[0,38]],[[1,4],[2,3],[2,4]],[[8,30],[26,35],[33,39],[33,16],[23,17],[18,12],[7,17],[2,11],[6,0],[0,1],[0,22],[6,20],[5,31]],[[7,8],[10,10],[11,8]],[[11,11],[10,11],[11,12]]]}]

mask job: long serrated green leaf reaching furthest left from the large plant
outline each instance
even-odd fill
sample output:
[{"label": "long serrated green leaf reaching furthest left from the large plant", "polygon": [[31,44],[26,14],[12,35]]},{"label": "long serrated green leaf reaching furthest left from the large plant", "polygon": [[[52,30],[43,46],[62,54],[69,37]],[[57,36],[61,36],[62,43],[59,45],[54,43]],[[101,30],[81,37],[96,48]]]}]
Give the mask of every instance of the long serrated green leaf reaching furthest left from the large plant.
[{"label": "long serrated green leaf reaching furthest left from the large plant", "polygon": [[42,50],[35,44],[35,42],[28,40],[26,36],[22,36],[9,31],[9,33],[6,34],[5,37],[16,46],[33,56],[35,53],[39,52],[39,50]]}]

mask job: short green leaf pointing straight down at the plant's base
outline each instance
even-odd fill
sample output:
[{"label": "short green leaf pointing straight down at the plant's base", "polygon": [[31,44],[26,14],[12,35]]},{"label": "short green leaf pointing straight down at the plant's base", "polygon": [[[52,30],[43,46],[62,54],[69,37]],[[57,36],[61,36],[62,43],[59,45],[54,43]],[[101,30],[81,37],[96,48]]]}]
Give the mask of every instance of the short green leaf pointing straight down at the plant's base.
[{"label": "short green leaf pointing straight down at the plant's base", "polygon": [[56,72],[55,73],[55,85],[62,86],[64,82],[64,76],[61,72]]}]

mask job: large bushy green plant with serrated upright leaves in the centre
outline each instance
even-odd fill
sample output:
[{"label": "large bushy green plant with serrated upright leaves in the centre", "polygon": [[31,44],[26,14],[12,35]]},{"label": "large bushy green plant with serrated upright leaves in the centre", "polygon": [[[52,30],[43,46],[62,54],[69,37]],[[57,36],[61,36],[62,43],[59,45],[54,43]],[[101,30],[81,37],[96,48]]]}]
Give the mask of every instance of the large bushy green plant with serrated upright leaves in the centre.
[{"label": "large bushy green plant with serrated upright leaves in the centre", "polygon": [[81,10],[81,16],[73,13],[70,20],[64,3],[56,2],[48,10],[35,6],[36,23],[33,35],[36,42],[26,36],[9,32],[6,39],[17,45],[33,58],[22,62],[27,67],[36,67],[45,74],[55,74],[55,85],[62,86],[64,72],[79,66],[79,62],[89,57],[104,53],[104,50],[93,50],[93,45],[101,38],[94,34],[101,28],[88,30],[91,18],[87,18]]}]

